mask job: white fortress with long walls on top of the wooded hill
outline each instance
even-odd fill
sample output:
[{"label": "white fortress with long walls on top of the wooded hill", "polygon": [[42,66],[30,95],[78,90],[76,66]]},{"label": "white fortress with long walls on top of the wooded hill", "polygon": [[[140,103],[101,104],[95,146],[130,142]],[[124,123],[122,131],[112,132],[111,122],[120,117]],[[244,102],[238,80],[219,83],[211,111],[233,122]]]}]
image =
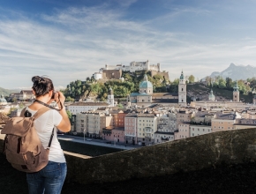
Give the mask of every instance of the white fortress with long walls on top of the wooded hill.
[{"label": "white fortress with long walls on top of the wooded hill", "polygon": [[109,65],[105,64],[104,68],[101,68],[99,72],[94,73],[94,78],[99,79],[123,79],[122,72],[136,72],[136,71],[150,71],[153,77],[156,74],[162,75],[165,79],[169,80],[168,71],[161,71],[160,63],[151,64],[148,60],[146,62],[131,62],[130,65]]}]

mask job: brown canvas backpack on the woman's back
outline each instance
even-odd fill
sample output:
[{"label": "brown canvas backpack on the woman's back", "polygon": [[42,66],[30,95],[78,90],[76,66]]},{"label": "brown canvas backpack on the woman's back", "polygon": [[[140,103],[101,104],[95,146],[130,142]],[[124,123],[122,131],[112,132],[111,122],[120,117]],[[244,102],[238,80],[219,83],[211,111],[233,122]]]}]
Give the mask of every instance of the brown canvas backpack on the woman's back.
[{"label": "brown canvas backpack on the woman's back", "polygon": [[25,117],[24,108],[20,116],[12,117],[1,131],[4,138],[4,153],[13,168],[26,173],[34,173],[44,168],[49,161],[49,147],[54,135],[54,129],[49,137],[47,149],[41,145],[34,120],[49,110],[48,107],[39,109],[34,116]]}]

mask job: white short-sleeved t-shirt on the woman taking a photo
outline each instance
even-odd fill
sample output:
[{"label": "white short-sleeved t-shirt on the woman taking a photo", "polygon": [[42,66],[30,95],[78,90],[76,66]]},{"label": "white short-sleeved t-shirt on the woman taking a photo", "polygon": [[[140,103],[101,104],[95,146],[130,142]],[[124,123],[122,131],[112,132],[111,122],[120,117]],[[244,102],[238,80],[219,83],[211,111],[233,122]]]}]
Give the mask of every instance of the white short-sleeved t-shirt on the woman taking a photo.
[{"label": "white short-sleeved t-shirt on the woman taking a photo", "polygon": [[[26,108],[32,116],[37,110]],[[50,109],[34,121],[34,128],[37,131],[38,137],[41,140],[42,146],[46,149],[49,145],[49,139],[54,126],[59,125],[63,117],[54,109]],[[55,162],[65,162],[64,152],[58,142],[56,136],[56,128],[54,130],[54,136],[52,138],[51,146],[49,148],[49,160]]]}]

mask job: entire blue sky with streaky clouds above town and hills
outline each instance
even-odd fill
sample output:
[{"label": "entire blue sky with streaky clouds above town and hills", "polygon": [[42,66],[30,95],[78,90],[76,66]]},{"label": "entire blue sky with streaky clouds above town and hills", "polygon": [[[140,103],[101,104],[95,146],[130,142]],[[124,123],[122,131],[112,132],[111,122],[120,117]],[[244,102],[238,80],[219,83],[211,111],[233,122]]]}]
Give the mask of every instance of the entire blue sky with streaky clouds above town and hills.
[{"label": "entire blue sky with streaky clouds above town and hills", "polygon": [[105,64],[161,63],[169,78],[256,65],[254,0],[0,0],[0,87],[56,87]]}]

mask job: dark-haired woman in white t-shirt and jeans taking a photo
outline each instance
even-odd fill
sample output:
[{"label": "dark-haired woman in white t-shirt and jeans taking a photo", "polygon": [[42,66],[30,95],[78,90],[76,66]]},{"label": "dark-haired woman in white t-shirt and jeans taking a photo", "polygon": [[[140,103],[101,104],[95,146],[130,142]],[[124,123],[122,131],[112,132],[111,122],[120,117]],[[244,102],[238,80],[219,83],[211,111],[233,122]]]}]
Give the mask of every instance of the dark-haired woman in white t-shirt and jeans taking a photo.
[{"label": "dark-haired woman in white t-shirt and jeans taking a photo", "polygon": [[[32,81],[34,83],[32,89],[37,101],[34,101],[33,104],[26,108],[32,116],[37,110],[44,107],[43,103],[49,104],[52,101],[56,101],[58,108],[62,108],[65,100],[64,94],[60,92],[54,93],[54,86],[49,78],[34,76]],[[34,121],[35,130],[44,148],[47,148],[49,144],[49,138],[54,126],[63,132],[71,130],[71,123],[64,108],[60,111],[50,109]],[[29,193],[61,193],[66,172],[64,153],[56,137],[55,130],[49,148],[48,165],[39,172],[26,174]]]}]

